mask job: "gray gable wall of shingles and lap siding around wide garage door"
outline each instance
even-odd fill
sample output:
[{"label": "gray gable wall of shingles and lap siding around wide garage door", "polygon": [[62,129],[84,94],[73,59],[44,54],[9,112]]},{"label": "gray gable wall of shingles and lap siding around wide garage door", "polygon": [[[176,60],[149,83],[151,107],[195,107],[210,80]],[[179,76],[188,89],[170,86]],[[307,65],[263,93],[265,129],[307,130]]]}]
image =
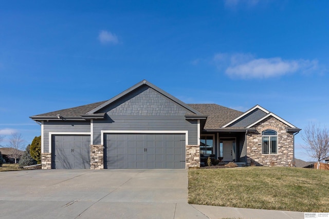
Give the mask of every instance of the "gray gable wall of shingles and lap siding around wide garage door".
[{"label": "gray gable wall of shingles and lap siding around wide garage door", "polygon": [[101,144],[102,130],[188,131],[189,144],[197,144],[197,121],[186,121],[191,111],[149,86],[141,86],[99,110],[105,120],[94,120],[94,144]]}]

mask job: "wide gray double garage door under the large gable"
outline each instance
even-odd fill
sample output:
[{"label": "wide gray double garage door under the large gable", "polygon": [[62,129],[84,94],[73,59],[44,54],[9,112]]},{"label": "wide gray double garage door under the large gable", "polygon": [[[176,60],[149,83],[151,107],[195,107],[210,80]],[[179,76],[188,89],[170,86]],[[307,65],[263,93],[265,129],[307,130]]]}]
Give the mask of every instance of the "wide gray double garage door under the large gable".
[{"label": "wide gray double garage door under the large gable", "polygon": [[105,134],[104,168],[185,168],[185,134]]}]

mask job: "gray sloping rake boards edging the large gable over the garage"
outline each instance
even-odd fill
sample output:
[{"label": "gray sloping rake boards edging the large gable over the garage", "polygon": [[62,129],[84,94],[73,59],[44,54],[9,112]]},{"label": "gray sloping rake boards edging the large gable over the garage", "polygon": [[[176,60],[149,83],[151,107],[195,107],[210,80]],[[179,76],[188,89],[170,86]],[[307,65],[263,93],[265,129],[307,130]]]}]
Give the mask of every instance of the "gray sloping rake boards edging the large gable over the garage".
[{"label": "gray sloping rake boards edging the large gable over the garage", "polygon": [[193,109],[192,107],[190,107],[189,105],[185,104],[184,102],[181,102],[179,99],[177,99],[176,97],[170,95],[169,93],[167,93],[166,91],[161,90],[160,88],[156,87],[155,85],[151,84],[150,82],[143,80],[139,83],[137,83],[136,85],[134,85],[133,87],[123,91],[122,93],[118,94],[117,96],[109,99],[108,101],[104,102],[103,104],[101,104],[100,106],[96,107],[93,110],[90,110],[89,112],[87,112],[86,114],[93,114],[96,112],[99,112],[101,109],[115,103],[116,101],[118,101],[119,99],[123,98],[126,95],[131,94],[132,92],[136,91],[137,89],[141,88],[142,86],[148,86],[150,88],[152,88],[154,91],[156,91],[157,93],[167,97],[168,99],[170,99],[172,102],[180,105],[181,107],[187,109],[188,111],[190,111],[191,113],[195,113],[197,115],[202,115],[202,113],[198,112],[197,110]]}]

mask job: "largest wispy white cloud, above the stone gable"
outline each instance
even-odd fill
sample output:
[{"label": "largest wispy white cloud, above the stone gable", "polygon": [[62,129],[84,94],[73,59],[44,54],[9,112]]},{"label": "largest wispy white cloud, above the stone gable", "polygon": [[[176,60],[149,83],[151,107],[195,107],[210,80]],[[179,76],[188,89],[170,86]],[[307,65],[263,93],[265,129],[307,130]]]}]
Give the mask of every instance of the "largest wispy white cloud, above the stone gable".
[{"label": "largest wispy white cloud, above the stone gable", "polygon": [[227,75],[239,78],[268,78],[295,72],[313,72],[318,69],[316,59],[255,58],[252,54],[244,53],[217,53],[213,57],[213,62]]}]

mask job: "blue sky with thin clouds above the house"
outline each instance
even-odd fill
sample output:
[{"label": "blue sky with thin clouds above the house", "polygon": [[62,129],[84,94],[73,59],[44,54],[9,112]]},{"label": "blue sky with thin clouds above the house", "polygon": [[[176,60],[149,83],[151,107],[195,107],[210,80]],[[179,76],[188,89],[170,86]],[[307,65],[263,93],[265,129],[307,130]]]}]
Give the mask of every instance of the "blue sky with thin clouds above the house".
[{"label": "blue sky with thin clouds above the house", "polygon": [[[329,127],[328,1],[3,1],[0,134],[147,79],[185,103]],[[296,136],[296,157],[311,160]]]}]

